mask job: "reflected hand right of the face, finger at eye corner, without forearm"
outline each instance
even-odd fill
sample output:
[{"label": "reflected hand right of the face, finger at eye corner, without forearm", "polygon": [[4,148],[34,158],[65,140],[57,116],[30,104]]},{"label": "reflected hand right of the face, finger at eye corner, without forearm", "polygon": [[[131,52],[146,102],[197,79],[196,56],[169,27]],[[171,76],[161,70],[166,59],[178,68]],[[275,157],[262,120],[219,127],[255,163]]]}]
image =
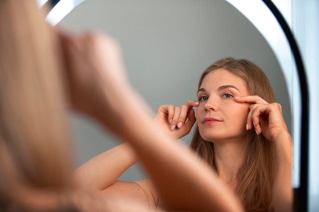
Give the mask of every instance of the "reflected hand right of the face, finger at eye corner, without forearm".
[{"label": "reflected hand right of the face, finger at eye corner, without forearm", "polygon": [[255,128],[269,141],[274,141],[281,132],[288,132],[279,103],[268,103],[259,96],[235,98],[238,103],[251,103],[247,117],[247,130]]}]

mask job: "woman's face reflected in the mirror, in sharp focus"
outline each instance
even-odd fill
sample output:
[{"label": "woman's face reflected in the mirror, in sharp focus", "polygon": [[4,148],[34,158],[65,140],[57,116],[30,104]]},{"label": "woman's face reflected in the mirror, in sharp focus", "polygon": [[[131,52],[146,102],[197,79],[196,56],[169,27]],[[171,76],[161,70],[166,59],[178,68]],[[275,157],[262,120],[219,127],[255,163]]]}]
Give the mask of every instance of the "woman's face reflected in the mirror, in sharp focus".
[{"label": "woman's face reflected in the mirror, in sharp focus", "polygon": [[235,102],[235,97],[248,96],[249,90],[241,77],[217,69],[204,78],[197,93],[198,129],[206,141],[246,139],[249,104]]}]

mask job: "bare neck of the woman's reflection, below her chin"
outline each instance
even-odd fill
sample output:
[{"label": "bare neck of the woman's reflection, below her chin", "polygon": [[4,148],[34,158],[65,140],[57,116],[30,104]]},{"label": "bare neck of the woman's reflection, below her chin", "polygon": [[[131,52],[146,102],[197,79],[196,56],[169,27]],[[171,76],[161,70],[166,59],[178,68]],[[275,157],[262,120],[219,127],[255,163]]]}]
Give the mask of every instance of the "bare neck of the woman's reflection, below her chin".
[{"label": "bare neck of the woman's reflection, below her chin", "polygon": [[214,142],[217,172],[225,184],[236,187],[237,173],[244,163],[246,152],[246,138],[234,142]]}]

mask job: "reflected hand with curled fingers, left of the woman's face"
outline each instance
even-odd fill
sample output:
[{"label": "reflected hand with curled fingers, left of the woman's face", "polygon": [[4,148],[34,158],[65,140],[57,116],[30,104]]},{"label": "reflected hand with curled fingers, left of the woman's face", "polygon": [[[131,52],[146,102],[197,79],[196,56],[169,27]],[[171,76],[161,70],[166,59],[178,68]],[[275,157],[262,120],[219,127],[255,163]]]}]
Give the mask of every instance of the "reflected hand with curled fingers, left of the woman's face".
[{"label": "reflected hand with curled fingers, left of the woman's face", "polygon": [[196,122],[193,107],[198,107],[199,103],[189,100],[185,105],[161,105],[157,109],[154,122],[175,140],[189,134]]}]

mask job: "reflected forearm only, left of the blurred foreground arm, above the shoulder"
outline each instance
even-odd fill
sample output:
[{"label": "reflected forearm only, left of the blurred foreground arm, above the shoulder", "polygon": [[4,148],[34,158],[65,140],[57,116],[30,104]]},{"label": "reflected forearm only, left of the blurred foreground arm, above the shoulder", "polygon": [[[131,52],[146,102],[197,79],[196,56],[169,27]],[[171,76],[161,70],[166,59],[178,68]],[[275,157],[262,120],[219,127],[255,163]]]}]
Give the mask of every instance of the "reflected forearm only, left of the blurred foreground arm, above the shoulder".
[{"label": "reflected forearm only, left of the blurred foreground arm, above the shoulder", "polygon": [[74,171],[79,186],[101,191],[113,185],[119,176],[138,161],[129,143],[111,148],[84,163]]}]

